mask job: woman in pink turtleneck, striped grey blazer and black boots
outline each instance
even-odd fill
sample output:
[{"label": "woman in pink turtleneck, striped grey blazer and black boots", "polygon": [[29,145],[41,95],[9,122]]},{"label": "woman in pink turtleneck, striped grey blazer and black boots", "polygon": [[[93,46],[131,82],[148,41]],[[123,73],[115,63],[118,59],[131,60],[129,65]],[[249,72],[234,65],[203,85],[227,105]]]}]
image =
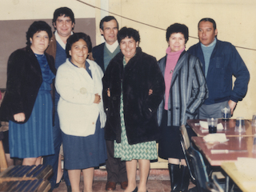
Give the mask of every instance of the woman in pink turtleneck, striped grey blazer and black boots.
[{"label": "woman in pink turtleneck, striped grey blazer and black boots", "polygon": [[[179,126],[196,118],[198,107],[207,98],[206,79],[199,59],[185,50],[189,38],[187,26],[174,23],[166,30],[169,46],[158,62],[165,79],[165,99],[158,109],[159,157],[168,159],[172,191],[187,191],[190,175],[180,145]],[[193,134],[193,130],[188,129]]]}]

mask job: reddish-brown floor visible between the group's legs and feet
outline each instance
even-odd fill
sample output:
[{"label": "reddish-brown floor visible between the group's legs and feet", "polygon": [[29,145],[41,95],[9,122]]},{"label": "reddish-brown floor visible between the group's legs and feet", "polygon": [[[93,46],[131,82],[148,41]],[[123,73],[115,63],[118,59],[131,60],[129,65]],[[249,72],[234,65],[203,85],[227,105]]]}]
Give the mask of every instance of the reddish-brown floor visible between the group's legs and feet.
[{"label": "reddish-brown floor visible between the group's legs and feet", "polygon": [[[106,192],[105,190],[106,181],[94,181],[93,190],[94,192]],[[194,187],[194,184],[190,182],[189,188]],[[83,189],[83,182],[80,183],[80,191]],[[163,180],[149,180],[147,182],[147,190],[149,192],[170,192],[170,181]],[[61,182],[57,189],[54,189],[54,192],[64,192],[66,191],[65,182]],[[114,192],[124,191],[121,189],[120,185],[117,185]]]}]

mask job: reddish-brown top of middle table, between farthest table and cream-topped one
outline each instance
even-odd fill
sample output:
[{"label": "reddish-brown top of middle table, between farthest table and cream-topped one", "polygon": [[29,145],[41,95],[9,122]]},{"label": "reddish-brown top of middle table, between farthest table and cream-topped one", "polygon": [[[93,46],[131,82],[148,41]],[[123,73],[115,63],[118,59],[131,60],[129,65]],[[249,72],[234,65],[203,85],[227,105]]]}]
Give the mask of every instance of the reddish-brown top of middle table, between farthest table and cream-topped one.
[{"label": "reddish-brown top of middle table, between farthest table and cream-topped one", "polygon": [[[205,142],[202,137],[192,137],[192,141],[202,154],[206,157],[211,166],[221,166],[222,162],[234,162],[238,157],[256,158],[252,153],[254,137],[229,137],[227,142]],[[212,154],[211,150],[238,150],[229,151],[228,153]],[[246,150],[246,151],[244,151]]]}]

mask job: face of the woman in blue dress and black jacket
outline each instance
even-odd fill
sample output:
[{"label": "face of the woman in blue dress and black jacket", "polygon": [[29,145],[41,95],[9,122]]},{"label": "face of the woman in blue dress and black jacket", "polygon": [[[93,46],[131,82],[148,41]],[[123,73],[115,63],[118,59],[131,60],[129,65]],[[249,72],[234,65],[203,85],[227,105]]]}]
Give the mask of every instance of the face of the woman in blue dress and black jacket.
[{"label": "face of the woman in blue dress and black jacket", "polygon": [[44,54],[45,50],[49,46],[49,36],[45,30],[41,30],[30,38],[30,48],[34,54]]}]

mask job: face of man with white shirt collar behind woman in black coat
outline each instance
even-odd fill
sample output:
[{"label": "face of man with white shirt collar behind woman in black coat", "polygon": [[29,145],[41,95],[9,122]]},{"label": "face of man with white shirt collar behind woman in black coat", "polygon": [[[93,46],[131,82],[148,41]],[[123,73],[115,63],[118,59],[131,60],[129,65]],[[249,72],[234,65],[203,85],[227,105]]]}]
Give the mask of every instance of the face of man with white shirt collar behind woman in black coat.
[{"label": "face of man with white shirt collar behind woman in black coat", "polygon": [[112,45],[118,39],[118,23],[112,19],[109,22],[103,22],[103,30],[101,34],[105,38],[107,44]]}]

